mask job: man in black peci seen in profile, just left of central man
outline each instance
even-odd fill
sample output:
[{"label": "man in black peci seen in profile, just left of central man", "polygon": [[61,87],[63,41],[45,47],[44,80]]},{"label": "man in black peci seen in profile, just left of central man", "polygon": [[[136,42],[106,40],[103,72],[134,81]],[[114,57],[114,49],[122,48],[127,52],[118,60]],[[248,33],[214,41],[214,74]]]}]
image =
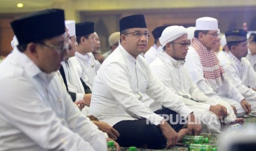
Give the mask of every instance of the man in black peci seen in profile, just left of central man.
[{"label": "man in black peci seen in profile, just left of central man", "polygon": [[78,43],[75,57],[77,57],[82,69],[81,79],[83,79],[92,91],[95,76],[101,65],[91,53],[96,44],[94,22],[86,21],[75,24],[75,34]]}]

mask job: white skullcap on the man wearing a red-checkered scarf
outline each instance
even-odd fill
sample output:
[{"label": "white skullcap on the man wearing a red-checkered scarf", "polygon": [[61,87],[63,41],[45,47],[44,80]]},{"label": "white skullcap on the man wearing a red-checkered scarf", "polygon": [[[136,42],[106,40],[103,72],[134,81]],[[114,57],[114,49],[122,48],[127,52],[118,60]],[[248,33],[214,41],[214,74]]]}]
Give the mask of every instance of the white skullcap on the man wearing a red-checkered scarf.
[{"label": "white skullcap on the man wearing a red-checkered scarf", "polygon": [[195,21],[195,30],[218,30],[218,21],[210,17],[199,18]]}]

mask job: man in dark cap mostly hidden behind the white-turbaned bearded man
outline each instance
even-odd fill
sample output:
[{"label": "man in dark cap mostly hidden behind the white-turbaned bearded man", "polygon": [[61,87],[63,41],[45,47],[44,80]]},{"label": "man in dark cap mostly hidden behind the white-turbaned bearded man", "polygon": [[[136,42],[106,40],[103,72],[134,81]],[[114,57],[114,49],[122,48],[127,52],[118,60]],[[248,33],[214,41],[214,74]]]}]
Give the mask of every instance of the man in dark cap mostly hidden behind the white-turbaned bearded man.
[{"label": "man in dark cap mostly hidden behind the white-turbaned bearded man", "polygon": [[159,46],[161,45],[159,42],[159,38],[162,34],[162,31],[164,31],[164,29],[167,26],[159,26],[156,27],[153,31],[152,31],[152,35],[154,37],[154,45],[152,45],[148,51],[146,51],[146,53],[144,54],[144,57],[146,59],[146,61],[148,61],[148,63],[151,63],[152,61],[154,61],[157,56],[159,56],[159,54],[161,53],[161,49],[157,50],[157,48],[159,48]]}]

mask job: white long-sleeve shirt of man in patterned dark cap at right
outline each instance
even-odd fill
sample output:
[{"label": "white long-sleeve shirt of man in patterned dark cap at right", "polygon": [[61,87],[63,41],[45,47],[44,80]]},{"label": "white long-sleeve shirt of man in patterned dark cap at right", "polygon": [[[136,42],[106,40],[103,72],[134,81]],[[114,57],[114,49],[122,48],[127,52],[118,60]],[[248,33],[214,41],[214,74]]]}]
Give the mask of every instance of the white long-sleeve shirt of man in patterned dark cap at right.
[{"label": "white long-sleeve shirt of man in patterned dark cap at right", "polygon": [[239,61],[232,53],[229,53],[224,69],[230,82],[236,86],[244,98],[256,101],[256,92],[252,89],[256,89],[256,72],[250,62],[244,57]]}]

